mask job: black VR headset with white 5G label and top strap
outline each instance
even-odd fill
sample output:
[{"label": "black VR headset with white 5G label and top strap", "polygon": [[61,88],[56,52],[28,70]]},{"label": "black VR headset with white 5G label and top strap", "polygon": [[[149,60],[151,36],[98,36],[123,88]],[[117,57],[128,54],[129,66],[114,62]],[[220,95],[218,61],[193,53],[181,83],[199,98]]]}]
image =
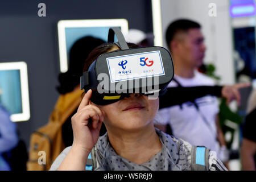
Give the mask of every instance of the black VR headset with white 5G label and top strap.
[{"label": "black VR headset with white 5G label and top strap", "polygon": [[[118,42],[114,42],[114,35]],[[94,104],[112,104],[132,93],[149,99],[166,93],[174,77],[170,52],[163,47],[129,48],[117,27],[109,29],[108,42],[120,49],[98,56],[80,79],[81,89],[92,89]]]}]

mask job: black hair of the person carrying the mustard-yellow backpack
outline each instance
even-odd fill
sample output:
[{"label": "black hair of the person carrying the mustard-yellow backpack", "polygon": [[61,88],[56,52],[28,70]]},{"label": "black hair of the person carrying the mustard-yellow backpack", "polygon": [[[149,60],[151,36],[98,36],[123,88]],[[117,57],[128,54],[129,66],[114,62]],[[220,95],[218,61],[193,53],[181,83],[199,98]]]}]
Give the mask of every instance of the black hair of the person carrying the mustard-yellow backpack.
[{"label": "black hair of the person carrying the mustard-yellow backpack", "polygon": [[104,40],[85,36],[77,40],[69,51],[69,68],[65,73],[59,74],[59,83],[57,90],[60,94],[71,92],[80,84],[80,76],[82,76],[84,63],[89,53],[104,43]]}]

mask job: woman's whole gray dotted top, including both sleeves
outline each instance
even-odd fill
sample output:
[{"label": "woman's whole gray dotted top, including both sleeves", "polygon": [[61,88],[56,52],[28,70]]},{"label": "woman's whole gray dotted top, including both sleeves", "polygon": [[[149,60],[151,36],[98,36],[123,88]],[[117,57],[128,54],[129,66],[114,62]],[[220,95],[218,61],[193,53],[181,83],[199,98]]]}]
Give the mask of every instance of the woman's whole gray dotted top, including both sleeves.
[{"label": "woman's whole gray dotted top, including both sleeves", "polygon": [[[162,150],[153,156],[148,162],[135,164],[129,160],[122,158],[115,153],[108,140],[108,134],[101,136],[96,145],[93,147],[93,158],[96,159],[95,171],[181,171],[191,170],[191,144],[182,139],[172,137],[162,131],[155,129],[162,142]],[[71,147],[65,148],[63,152],[56,158],[50,170],[59,168],[61,162],[68,154]],[[216,152],[209,152],[209,169],[210,171],[227,170],[221,161],[217,158]]]}]

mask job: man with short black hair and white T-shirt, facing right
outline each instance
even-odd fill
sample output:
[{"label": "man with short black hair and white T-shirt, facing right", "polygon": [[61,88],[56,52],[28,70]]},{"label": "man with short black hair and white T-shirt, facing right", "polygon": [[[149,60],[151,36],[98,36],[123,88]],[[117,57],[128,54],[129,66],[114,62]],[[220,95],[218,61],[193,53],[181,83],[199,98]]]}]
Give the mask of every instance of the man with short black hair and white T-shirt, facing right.
[{"label": "man with short black hair and white T-shirt, facing right", "polygon": [[[206,50],[199,23],[188,19],[172,22],[166,31],[166,41],[174,60],[174,79],[168,87],[213,86],[214,80],[197,68],[203,64]],[[183,96],[180,96],[183,97]],[[166,100],[166,102],[171,102]],[[206,146],[217,152],[218,158],[228,167],[228,151],[218,123],[218,101],[205,96],[179,106],[159,110],[164,129],[170,123],[172,134],[196,146]]]}]

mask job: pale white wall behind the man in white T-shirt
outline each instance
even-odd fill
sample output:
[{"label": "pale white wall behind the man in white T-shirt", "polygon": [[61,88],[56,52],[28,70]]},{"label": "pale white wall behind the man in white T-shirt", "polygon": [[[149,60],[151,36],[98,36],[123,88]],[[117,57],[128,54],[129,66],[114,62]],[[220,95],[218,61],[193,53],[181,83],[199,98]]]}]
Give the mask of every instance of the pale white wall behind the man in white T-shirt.
[{"label": "pale white wall behind the man in white T-shirt", "polygon": [[[155,0],[152,0],[155,1]],[[213,63],[220,84],[233,84],[235,81],[233,63],[233,40],[229,0],[156,0],[161,3],[163,47],[166,47],[165,34],[168,25],[179,18],[196,20],[202,26],[205,36],[205,63]],[[216,3],[217,16],[210,17],[209,3]],[[152,7],[154,9],[154,6]],[[153,11],[154,12],[154,11]],[[154,22],[153,22],[154,23]]]}]

